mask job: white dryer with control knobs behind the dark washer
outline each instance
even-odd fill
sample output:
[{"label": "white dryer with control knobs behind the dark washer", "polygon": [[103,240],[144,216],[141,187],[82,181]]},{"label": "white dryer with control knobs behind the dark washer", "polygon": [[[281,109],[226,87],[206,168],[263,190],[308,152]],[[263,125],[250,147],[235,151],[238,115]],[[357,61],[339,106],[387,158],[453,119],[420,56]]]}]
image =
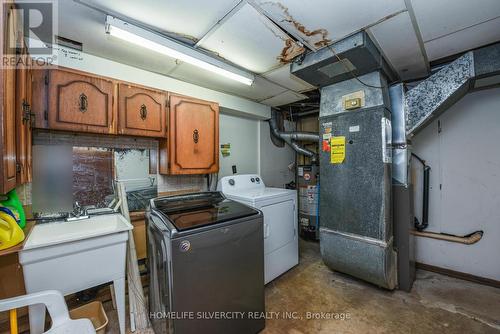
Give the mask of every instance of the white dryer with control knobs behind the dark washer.
[{"label": "white dryer with control knobs behind the dark washer", "polygon": [[269,283],[299,263],[297,192],[266,187],[256,174],[226,176],[217,190],[264,214],[264,277]]}]

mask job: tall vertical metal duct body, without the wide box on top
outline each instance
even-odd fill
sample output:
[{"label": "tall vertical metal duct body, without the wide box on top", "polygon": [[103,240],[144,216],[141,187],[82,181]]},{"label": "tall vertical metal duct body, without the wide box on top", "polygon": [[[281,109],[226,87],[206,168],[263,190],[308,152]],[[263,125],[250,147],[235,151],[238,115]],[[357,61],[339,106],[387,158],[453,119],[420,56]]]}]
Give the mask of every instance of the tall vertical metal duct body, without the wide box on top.
[{"label": "tall vertical metal duct body, without the wide box on top", "polygon": [[[391,217],[391,113],[385,76],[372,72],[322,88],[320,131],[323,139],[341,139],[344,159],[320,152],[320,246],[334,270],[378,286],[396,286],[396,255]],[[362,107],[345,110],[342,96],[363,90]],[[336,154],[336,153],[335,153]]]}]

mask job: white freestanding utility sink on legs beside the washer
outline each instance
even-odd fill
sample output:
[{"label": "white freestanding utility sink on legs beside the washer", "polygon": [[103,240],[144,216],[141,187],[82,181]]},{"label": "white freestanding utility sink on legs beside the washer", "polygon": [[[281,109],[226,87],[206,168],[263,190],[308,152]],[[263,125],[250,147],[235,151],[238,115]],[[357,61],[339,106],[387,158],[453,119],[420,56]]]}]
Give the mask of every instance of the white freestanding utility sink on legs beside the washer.
[{"label": "white freestanding utility sink on legs beside the washer", "polygon": [[[113,282],[124,334],[125,260],[131,229],[121,214],[35,225],[19,253],[26,292],[58,290],[68,295]],[[42,333],[45,306],[32,305],[29,312],[30,333]]]}]

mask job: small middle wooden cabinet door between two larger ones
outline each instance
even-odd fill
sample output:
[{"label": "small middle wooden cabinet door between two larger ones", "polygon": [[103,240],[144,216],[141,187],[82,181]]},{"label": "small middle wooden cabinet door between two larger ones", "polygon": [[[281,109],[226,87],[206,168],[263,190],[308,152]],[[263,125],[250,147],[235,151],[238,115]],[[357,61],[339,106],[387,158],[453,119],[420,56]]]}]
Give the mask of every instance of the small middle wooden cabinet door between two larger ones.
[{"label": "small middle wooden cabinet door between two larger ones", "polygon": [[120,134],[165,137],[165,92],[120,84],[118,88]]}]

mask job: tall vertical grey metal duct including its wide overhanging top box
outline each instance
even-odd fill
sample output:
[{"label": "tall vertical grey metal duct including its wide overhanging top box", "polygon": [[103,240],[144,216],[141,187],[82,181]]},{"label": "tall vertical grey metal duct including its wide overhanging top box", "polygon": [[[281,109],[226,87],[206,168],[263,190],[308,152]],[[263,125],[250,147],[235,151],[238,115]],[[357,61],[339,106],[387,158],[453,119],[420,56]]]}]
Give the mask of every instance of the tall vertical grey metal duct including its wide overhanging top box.
[{"label": "tall vertical grey metal duct including its wide overhanging top box", "polygon": [[[334,270],[394,289],[388,91],[393,73],[366,32],[307,54],[292,64],[291,73],[321,87],[323,261]],[[357,100],[357,108],[347,108],[348,99]]]}]

